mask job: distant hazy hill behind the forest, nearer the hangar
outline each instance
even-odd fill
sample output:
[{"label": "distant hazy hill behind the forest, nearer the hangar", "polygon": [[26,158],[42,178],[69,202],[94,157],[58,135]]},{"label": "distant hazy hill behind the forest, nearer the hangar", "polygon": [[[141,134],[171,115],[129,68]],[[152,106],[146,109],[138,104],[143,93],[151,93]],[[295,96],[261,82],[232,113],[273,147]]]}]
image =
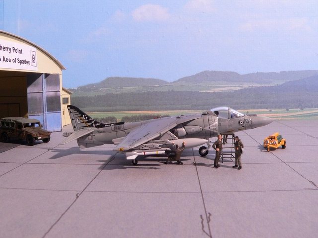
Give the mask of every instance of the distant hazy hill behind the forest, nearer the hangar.
[{"label": "distant hazy hill behind the forest, nearer the hangar", "polygon": [[113,87],[140,87],[140,86],[155,86],[164,85],[168,82],[155,78],[124,78],[124,77],[109,77],[99,83],[92,83],[78,87],[80,91],[95,91],[102,88]]}]

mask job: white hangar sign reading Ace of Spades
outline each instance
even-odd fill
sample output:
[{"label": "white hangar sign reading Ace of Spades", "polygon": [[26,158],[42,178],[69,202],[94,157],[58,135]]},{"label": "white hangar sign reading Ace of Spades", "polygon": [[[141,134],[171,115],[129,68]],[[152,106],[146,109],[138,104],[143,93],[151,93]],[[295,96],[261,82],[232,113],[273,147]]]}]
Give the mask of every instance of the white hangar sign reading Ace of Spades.
[{"label": "white hangar sign reading Ace of Spades", "polygon": [[0,39],[0,68],[37,71],[36,49]]}]

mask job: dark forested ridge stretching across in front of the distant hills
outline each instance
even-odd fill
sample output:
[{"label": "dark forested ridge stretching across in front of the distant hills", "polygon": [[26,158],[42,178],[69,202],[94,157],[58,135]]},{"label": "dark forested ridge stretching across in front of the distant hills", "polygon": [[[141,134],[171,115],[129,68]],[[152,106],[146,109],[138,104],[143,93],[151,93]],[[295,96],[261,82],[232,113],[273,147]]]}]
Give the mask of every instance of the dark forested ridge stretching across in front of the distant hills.
[{"label": "dark forested ridge stretching across in front of the distant hills", "polygon": [[278,86],[249,87],[232,92],[153,91],[72,97],[84,111],[207,110],[318,107],[318,75]]}]

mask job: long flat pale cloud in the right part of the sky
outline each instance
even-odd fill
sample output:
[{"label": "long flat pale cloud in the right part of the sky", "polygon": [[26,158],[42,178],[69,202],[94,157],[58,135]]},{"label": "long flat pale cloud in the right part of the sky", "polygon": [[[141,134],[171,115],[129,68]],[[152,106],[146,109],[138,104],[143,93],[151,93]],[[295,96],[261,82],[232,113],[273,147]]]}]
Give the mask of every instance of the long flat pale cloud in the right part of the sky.
[{"label": "long flat pale cloud in the right part of the sky", "polygon": [[312,31],[307,18],[266,19],[243,23],[239,27],[242,31]]}]

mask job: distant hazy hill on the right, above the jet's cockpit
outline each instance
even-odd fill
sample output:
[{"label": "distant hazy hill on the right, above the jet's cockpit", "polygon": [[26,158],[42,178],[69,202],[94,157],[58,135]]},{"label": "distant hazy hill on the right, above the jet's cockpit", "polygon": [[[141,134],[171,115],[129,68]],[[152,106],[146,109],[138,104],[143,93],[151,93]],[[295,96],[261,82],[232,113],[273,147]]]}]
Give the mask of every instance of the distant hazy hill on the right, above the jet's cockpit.
[{"label": "distant hazy hill on the right, above the jet's cockpit", "polygon": [[279,73],[249,73],[239,74],[236,72],[222,72],[222,71],[204,71],[192,76],[180,78],[174,81],[175,85],[199,84],[209,82],[254,82],[260,84],[270,84],[275,82],[287,82],[299,80],[318,75],[318,70],[304,70],[304,71],[281,71]]}]

